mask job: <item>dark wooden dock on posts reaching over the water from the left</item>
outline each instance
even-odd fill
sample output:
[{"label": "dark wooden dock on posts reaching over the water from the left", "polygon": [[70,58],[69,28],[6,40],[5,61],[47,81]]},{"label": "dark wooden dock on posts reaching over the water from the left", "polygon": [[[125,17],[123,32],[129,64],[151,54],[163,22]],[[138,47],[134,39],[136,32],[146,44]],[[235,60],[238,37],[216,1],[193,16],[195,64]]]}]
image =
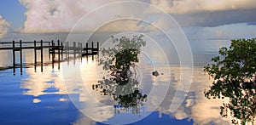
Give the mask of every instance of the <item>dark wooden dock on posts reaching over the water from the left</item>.
[{"label": "dark wooden dock on posts reaching over the water from the left", "polygon": [[[11,42],[11,43],[2,43],[4,45],[7,45],[8,47],[0,48],[0,50],[12,50],[13,51],[13,66],[7,66],[6,69],[13,68],[15,73],[15,68],[20,68],[20,74],[22,74],[22,66],[24,65],[22,62],[22,50],[23,49],[34,49],[34,65],[35,70],[37,68],[37,65],[41,65],[41,71],[43,72],[43,65],[52,63],[52,67],[54,68],[54,63],[58,62],[58,69],[60,69],[60,63],[63,61],[69,61],[69,60],[76,60],[77,58],[81,58],[86,56],[88,59],[88,55],[96,55],[98,54],[99,50],[99,43],[97,42],[96,48],[94,48],[94,43],[92,42],[91,47],[88,46],[88,43],[86,43],[85,48],[83,48],[82,43],[76,43],[73,42],[73,45],[70,46],[69,43],[65,43],[65,46],[63,43],[61,43],[59,40],[55,43],[54,41],[51,42],[43,42],[42,40],[40,42],[34,41],[34,42]],[[15,46],[15,44],[19,44],[19,46]],[[38,45],[39,44],[39,45]],[[49,59],[51,57],[50,62],[44,62],[43,57],[43,49],[48,48],[49,49]],[[40,51],[40,62],[37,61],[37,51]],[[15,62],[15,52],[20,52],[20,64],[16,64]],[[65,60],[63,60],[63,54],[65,54]],[[78,56],[77,56],[78,54]],[[55,59],[57,57],[58,59]],[[75,63],[75,61],[74,61]],[[4,69],[4,67],[0,68],[1,70]]]}]

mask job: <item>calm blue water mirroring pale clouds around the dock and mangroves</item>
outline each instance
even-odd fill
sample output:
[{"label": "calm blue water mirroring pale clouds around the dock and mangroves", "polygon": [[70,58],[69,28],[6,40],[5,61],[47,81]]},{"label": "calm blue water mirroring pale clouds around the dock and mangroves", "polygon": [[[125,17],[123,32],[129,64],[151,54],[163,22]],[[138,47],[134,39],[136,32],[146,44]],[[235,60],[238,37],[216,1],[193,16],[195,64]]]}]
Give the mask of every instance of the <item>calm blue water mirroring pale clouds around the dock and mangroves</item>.
[{"label": "calm blue water mirroring pale clouds around the dock and mangroves", "polygon": [[[24,37],[32,41],[34,37],[55,37],[65,40],[67,34],[57,35],[21,35],[14,34],[12,38]],[[42,37],[43,36],[43,37]],[[50,37],[49,37],[50,36]],[[64,41],[63,40],[63,41]],[[9,41],[8,38],[2,41]],[[191,70],[190,66],[181,66],[177,61],[169,60],[169,65],[150,65],[150,60],[141,57],[138,64],[139,92],[147,94],[147,100],[136,106],[122,107],[113,99],[113,95],[102,95],[101,88],[92,88],[101,80],[101,70],[97,67],[97,57],[69,60],[60,64],[44,64],[43,72],[40,66],[37,70],[33,50],[23,52],[23,75],[17,68],[0,71],[0,124],[103,124],[132,122],[131,124],[229,124],[229,118],[219,115],[222,99],[206,99],[203,91],[208,88],[212,79],[203,71],[203,66],[215,55],[218,48],[228,46],[227,40],[189,40],[194,57],[193,77],[188,94],[177,110],[170,110],[175,102],[174,94],[178,89],[182,70]],[[3,46],[0,44],[0,46]],[[16,54],[19,57],[18,53]],[[0,51],[0,66],[12,64],[12,52]],[[39,54],[38,54],[39,57]],[[65,57],[65,55],[64,55]],[[160,55],[152,55],[153,60],[161,61]],[[50,57],[51,58],[51,57]],[[49,62],[48,49],[44,49],[44,62]],[[16,62],[19,62],[19,58]],[[38,58],[38,61],[40,59]],[[157,69],[161,74],[154,77],[151,72]],[[168,70],[170,69],[170,72]],[[166,82],[171,82],[166,86]],[[94,86],[95,87],[95,86]],[[166,90],[166,96],[152,94],[151,91]],[[161,99],[162,101],[160,101]],[[160,102],[159,102],[160,101]],[[154,104],[160,103],[155,107]],[[144,117],[144,118],[143,118]],[[102,123],[103,122],[103,123]]]}]

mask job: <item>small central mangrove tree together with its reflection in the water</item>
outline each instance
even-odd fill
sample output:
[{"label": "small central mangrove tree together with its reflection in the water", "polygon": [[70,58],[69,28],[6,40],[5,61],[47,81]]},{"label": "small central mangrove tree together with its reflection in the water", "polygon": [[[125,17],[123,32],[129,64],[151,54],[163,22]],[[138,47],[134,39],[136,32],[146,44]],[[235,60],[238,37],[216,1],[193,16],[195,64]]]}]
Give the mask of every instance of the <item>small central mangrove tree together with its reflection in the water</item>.
[{"label": "small central mangrove tree together with its reflection in the water", "polygon": [[147,95],[138,90],[137,63],[141,48],[146,45],[143,35],[114,38],[113,48],[103,48],[99,65],[108,74],[93,88],[102,88],[102,94],[113,95],[120,106],[137,107],[145,101]]}]

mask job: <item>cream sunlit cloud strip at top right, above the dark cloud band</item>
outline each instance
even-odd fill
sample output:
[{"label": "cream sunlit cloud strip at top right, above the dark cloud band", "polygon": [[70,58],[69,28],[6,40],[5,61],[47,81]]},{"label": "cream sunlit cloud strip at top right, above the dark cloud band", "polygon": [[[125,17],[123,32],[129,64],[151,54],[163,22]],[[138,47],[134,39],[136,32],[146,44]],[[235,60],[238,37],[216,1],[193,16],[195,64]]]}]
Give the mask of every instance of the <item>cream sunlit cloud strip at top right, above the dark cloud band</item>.
[{"label": "cream sunlit cloud strip at top right, above the dark cloud band", "polygon": [[150,3],[171,14],[256,9],[254,0],[151,0]]}]

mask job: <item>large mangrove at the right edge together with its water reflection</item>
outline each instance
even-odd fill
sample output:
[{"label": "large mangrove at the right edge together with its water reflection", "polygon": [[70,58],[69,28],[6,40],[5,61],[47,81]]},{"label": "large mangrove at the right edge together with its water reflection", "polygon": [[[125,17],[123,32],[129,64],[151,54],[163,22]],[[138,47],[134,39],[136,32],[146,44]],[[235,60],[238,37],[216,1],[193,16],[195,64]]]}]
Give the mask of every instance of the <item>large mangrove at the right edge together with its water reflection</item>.
[{"label": "large mangrove at the right edge together with its water reflection", "polygon": [[212,65],[205,66],[205,71],[214,78],[205,96],[229,98],[230,102],[221,106],[220,114],[233,116],[232,123],[255,123],[256,39],[231,42],[230,48],[219,49],[220,56],[212,58]]}]

